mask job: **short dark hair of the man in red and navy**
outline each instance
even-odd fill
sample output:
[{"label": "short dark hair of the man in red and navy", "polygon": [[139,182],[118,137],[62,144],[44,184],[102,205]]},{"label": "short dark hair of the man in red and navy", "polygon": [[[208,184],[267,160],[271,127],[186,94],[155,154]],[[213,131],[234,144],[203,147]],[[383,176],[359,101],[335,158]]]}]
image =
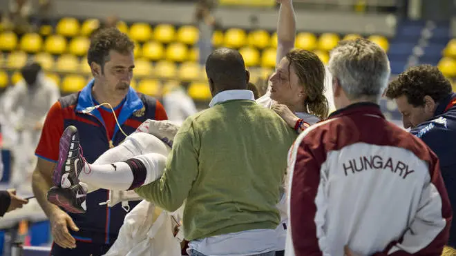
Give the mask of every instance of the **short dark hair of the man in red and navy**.
[{"label": "short dark hair of the man in red and navy", "polygon": [[88,65],[91,65],[92,62],[97,63],[102,66],[102,72],[104,72],[104,63],[109,61],[110,50],[126,54],[133,52],[134,49],[135,43],[117,28],[102,28],[91,36],[87,62]]}]

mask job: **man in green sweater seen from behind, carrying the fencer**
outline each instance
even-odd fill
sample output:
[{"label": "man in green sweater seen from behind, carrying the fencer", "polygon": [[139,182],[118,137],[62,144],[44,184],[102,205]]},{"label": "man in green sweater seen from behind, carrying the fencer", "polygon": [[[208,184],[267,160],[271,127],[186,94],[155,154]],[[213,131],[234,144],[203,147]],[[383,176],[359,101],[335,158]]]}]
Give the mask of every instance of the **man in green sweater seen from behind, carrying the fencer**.
[{"label": "man in green sweater seen from behind, carrying the fencer", "polygon": [[[148,170],[161,164],[146,155],[107,167],[116,173],[128,169],[130,189],[146,184],[135,192],[164,210],[173,212],[185,201],[189,255],[273,256],[280,221],[276,204],[296,132],[256,104],[238,51],[215,50],[206,72],[210,108],[184,121],[162,175]],[[95,171],[94,165],[84,168]],[[152,176],[161,178],[149,183],[154,171]]]}]

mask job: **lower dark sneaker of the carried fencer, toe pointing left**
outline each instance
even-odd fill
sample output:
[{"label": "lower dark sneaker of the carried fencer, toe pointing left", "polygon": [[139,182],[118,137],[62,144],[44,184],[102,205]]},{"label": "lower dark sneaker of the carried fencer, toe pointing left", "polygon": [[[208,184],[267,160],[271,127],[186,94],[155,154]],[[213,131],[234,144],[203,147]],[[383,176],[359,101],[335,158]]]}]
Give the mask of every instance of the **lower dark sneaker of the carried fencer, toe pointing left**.
[{"label": "lower dark sneaker of the carried fencer, toe pointing left", "polygon": [[48,191],[48,201],[70,213],[86,213],[86,193],[87,188],[84,188],[83,184],[70,188],[53,186]]}]

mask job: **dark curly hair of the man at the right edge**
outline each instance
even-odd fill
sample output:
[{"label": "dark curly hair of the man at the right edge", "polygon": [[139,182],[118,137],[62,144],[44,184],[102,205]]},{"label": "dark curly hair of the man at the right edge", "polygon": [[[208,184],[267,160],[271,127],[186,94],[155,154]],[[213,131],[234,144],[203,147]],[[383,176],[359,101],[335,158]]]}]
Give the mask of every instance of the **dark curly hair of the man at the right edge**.
[{"label": "dark curly hair of the man at the right edge", "polygon": [[428,64],[408,68],[388,84],[386,97],[396,99],[406,95],[408,103],[424,106],[424,97],[429,95],[435,102],[448,97],[453,91],[451,83],[440,70]]}]

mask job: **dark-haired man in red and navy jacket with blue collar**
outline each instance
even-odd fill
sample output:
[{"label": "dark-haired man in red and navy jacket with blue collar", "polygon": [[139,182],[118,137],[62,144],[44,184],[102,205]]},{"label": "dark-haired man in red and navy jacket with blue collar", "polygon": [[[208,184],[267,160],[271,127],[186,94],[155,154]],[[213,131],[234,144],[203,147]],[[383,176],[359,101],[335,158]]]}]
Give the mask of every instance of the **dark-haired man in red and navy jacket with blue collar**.
[{"label": "dark-haired man in red and navy jacket with blue collar", "polygon": [[46,117],[35,151],[38,161],[32,187],[50,219],[55,242],[53,256],[104,255],[115,242],[126,215],[120,204],[112,208],[99,205],[109,199],[108,190],[100,189],[87,195],[84,215],[66,213],[47,201],[46,193],[53,185],[51,175],[59,157],[59,139],[64,129],[75,126],[79,130],[84,156],[93,163],[108,148],[120,144],[125,135],[117,127],[111,108],[101,106],[90,113],[84,111],[86,108],[110,104],[127,135],[146,119],[167,119],[156,99],[135,92],[129,86],[134,68],[133,48],[133,41],[117,28],[95,33],[87,57],[94,79],[80,92],[61,97]]}]

